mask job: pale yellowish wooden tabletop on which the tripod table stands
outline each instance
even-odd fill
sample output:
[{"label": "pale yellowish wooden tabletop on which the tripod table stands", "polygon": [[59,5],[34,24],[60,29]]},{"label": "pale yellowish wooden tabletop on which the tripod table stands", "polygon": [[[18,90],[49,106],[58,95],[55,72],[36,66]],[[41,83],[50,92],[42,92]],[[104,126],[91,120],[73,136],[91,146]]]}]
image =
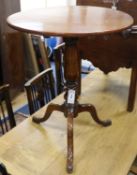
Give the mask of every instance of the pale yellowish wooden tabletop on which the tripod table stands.
[{"label": "pale yellowish wooden tabletop on which the tripod table stands", "polygon": [[[104,128],[87,112],[75,119],[75,175],[126,175],[134,161],[137,110],[125,110],[129,74],[120,73],[110,74],[106,81],[106,76],[95,70],[83,80],[80,101],[95,104],[103,119],[111,114],[113,124]],[[63,95],[54,100],[62,101]],[[41,117],[45,109],[36,115]],[[12,175],[66,175],[66,125],[60,112],[52,113],[40,125],[31,117],[26,119],[0,138],[0,161]]]}]

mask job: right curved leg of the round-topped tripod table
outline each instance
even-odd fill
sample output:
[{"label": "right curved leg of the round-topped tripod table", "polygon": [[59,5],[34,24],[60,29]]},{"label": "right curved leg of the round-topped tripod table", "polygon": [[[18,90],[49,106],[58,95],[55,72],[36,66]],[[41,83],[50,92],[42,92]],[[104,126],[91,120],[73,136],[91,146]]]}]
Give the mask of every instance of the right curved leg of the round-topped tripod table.
[{"label": "right curved leg of the round-topped tripod table", "polygon": [[112,124],[111,120],[101,120],[97,115],[97,111],[95,107],[91,104],[79,104],[78,105],[78,113],[79,112],[89,112],[95,122],[101,124],[102,126],[109,126]]}]

